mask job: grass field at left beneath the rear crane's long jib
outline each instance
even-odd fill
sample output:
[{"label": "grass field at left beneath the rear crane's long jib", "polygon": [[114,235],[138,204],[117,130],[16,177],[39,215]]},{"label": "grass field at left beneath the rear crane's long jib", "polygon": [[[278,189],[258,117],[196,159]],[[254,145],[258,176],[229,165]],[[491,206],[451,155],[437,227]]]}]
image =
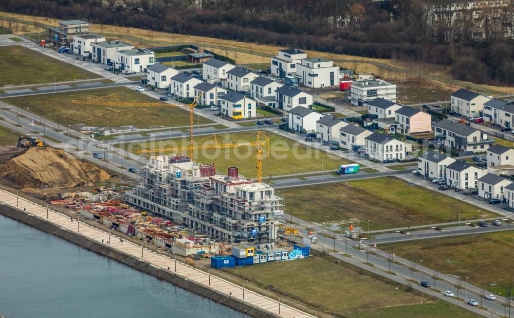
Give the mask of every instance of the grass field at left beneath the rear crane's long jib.
[{"label": "grass field at left beneath the rear crane's long jib", "polygon": [[[19,107],[29,108],[30,112],[41,114],[43,117],[55,122],[59,121],[64,126],[84,123],[87,126],[105,127],[107,122],[109,123],[109,128],[128,125],[134,125],[137,128],[189,125],[189,110],[178,107],[105,106],[72,104],[70,102],[71,99],[98,99],[114,93],[117,94],[122,102],[158,101],[127,87],[109,87],[108,89],[15,97],[9,99],[9,102]],[[105,100],[115,101],[113,97]],[[198,118],[195,116],[195,123],[197,122]],[[212,123],[212,121],[200,117],[201,123]]]}]

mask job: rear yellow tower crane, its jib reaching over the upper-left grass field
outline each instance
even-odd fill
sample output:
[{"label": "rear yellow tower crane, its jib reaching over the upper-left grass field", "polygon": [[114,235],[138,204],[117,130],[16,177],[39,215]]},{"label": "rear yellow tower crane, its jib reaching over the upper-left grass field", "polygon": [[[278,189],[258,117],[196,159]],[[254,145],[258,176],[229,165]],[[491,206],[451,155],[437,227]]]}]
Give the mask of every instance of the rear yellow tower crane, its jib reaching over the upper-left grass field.
[{"label": "rear yellow tower crane, its jib reaching over the upper-left grass field", "polygon": [[[189,154],[191,158],[193,158],[193,115],[194,108],[197,105],[196,101],[203,93],[198,94],[193,99],[193,102],[186,105],[177,105],[177,104],[169,104],[162,102],[124,102],[120,101],[116,94],[107,95],[104,97],[96,98],[96,99],[85,99],[85,100],[77,100],[72,99],[71,103],[73,104],[86,104],[86,105],[104,105],[104,106],[159,106],[159,107],[187,107],[189,108]],[[115,99],[115,101],[109,101],[107,99]]]}]

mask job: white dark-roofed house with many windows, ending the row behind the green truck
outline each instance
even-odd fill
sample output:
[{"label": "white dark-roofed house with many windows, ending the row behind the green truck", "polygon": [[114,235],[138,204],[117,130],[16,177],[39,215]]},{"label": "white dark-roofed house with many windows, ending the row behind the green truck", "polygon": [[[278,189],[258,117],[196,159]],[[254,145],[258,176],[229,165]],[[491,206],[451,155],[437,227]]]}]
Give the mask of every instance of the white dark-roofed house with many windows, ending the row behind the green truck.
[{"label": "white dark-roofed house with many windows, ending the row behind the green truck", "polygon": [[405,158],[405,143],[389,135],[373,133],[365,140],[366,156],[380,161]]}]

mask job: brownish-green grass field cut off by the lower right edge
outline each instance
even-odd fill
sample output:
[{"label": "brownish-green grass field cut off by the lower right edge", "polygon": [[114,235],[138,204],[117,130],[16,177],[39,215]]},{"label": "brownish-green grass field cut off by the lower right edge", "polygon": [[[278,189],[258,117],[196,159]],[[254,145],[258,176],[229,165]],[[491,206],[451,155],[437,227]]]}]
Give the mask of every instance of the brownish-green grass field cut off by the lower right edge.
[{"label": "brownish-green grass field cut off by the lower right edge", "polygon": [[423,255],[423,265],[440,273],[469,277],[468,282],[487,291],[506,295],[512,283],[511,264],[505,261],[514,250],[511,231],[465,235],[444,239],[382,244],[381,249],[411,259]]}]

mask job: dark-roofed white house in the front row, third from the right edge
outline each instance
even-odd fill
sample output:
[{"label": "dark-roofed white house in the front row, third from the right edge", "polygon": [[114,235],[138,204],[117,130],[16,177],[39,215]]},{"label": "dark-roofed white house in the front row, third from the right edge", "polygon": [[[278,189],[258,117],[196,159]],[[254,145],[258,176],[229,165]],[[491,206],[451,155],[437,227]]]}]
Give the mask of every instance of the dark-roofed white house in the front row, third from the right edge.
[{"label": "dark-roofed white house in the front row, third from the right edge", "polygon": [[479,188],[479,179],[487,173],[486,169],[481,169],[465,161],[457,160],[446,166],[446,182],[450,188],[459,190]]}]

